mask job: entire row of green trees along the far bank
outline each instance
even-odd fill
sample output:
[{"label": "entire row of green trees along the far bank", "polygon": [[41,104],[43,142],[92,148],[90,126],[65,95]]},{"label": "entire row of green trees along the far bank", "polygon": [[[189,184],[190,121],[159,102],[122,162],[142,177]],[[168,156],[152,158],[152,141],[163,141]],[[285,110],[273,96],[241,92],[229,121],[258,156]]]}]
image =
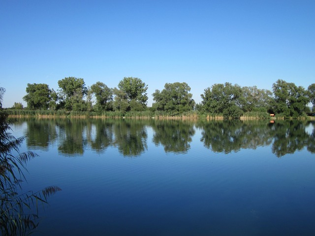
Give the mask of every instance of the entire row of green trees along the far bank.
[{"label": "entire row of green trees along the far bank", "polygon": [[[24,100],[28,109],[65,109],[68,111],[151,111],[180,115],[191,110],[226,118],[238,118],[245,112],[269,112],[284,117],[298,117],[310,113],[308,104],[315,106],[315,84],[308,89],[278,80],[273,90],[241,87],[231,83],[214,84],[204,89],[202,102],[195,104],[187,83],[166,83],[156,90],[154,103],[147,107],[148,94],[141,79],[125,77],[118,88],[108,88],[102,82],[86,87],[81,78],[66,77],[58,81],[57,92],[47,84],[28,84]],[[14,108],[21,108],[15,103]]]}]

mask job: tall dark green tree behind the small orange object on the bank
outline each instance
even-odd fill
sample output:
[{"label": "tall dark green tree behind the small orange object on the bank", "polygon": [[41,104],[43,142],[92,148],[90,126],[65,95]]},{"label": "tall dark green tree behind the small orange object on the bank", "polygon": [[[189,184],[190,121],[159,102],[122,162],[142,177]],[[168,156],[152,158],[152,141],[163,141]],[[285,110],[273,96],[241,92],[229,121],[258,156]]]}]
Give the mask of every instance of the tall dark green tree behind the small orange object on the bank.
[{"label": "tall dark green tree behind the small orange object on the bank", "polygon": [[272,88],[276,113],[286,118],[306,115],[306,106],[310,100],[303,87],[297,87],[294,83],[287,83],[284,80],[277,80]]}]

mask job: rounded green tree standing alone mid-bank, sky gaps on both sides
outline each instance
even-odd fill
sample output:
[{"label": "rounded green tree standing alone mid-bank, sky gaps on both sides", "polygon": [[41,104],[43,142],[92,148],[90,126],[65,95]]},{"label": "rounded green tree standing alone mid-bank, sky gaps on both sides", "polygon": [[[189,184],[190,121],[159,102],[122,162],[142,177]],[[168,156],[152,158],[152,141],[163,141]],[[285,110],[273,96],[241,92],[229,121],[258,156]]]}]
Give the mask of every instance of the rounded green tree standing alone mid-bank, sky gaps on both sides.
[{"label": "rounded green tree standing alone mid-bank, sky gaps on both sides", "polygon": [[192,94],[189,93],[190,87],[187,83],[166,83],[164,89],[158,89],[152,94],[152,108],[157,111],[169,112],[172,115],[182,114],[193,110],[195,102],[192,99]]}]

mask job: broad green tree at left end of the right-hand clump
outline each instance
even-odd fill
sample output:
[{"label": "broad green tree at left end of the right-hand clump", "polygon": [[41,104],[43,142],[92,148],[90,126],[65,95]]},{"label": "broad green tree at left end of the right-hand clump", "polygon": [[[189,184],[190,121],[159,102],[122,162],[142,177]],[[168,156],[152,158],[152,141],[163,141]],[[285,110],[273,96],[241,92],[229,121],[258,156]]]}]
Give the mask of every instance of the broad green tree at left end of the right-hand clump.
[{"label": "broad green tree at left end of the right-hand clump", "polygon": [[221,114],[224,118],[240,118],[242,115],[240,100],[242,88],[231,83],[214,84],[201,94],[205,112],[211,115]]}]

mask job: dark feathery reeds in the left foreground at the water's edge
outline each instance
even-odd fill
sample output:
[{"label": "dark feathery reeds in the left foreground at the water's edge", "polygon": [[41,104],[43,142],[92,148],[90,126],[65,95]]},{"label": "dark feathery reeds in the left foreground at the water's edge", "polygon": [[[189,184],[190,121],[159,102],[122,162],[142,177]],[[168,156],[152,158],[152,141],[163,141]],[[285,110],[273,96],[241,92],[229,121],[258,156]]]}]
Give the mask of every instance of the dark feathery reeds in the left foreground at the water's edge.
[{"label": "dark feathery reeds in the left foreground at the water's edge", "polygon": [[[4,89],[0,88],[0,101]],[[21,192],[23,170],[27,161],[36,156],[33,152],[19,152],[24,138],[14,138],[7,121],[7,114],[0,109],[0,231],[3,236],[26,235],[36,229],[38,215],[26,213],[39,202],[47,203],[47,197],[61,189],[51,186],[38,192]],[[16,153],[14,155],[14,153]]]}]

